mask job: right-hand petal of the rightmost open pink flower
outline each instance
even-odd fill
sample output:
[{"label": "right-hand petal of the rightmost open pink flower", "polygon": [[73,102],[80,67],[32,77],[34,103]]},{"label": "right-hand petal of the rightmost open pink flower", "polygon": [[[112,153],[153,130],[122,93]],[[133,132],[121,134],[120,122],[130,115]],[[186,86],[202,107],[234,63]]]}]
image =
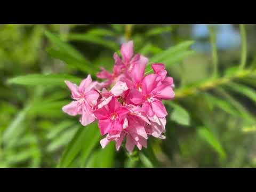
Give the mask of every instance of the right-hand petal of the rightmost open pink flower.
[{"label": "right-hand petal of the rightmost open pink flower", "polygon": [[174,91],[171,86],[166,86],[166,85],[159,85],[157,86],[152,92],[154,98],[158,99],[173,99],[174,98]]}]

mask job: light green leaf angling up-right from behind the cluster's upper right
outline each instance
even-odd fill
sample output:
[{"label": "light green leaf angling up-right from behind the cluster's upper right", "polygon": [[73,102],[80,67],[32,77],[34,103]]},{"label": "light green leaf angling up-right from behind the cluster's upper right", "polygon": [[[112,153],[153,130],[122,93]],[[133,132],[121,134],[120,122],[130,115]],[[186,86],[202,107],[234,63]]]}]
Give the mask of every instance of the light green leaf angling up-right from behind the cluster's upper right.
[{"label": "light green leaf angling up-right from behind the cluster's upper right", "polygon": [[[161,53],[156,54],[154,57],[152,57],[149,60],[150,63],[157,63],[157,62],[167,62],[168,65],[171,65],[174,62],[177,62],[184,57],[187,57],[187,55],[193,53],[190,51],[187,51],[187,49],[194,43],[194,41],[185,41],[178,45],[171,46],[169,49],[162,51]],[[167,64],[166,64],[166,67]],[[153,72],[153,69],[151,69],[151,65],[148,65],[146,67],[146,73],[149,74]]]}]

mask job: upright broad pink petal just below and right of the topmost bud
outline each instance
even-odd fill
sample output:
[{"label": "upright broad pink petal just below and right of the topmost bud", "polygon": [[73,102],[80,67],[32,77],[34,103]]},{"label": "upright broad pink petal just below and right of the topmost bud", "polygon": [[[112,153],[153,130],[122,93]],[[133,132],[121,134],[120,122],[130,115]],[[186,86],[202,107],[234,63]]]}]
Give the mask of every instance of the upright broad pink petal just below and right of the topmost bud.
[{"label": "upright broad pink petal just below and right of the topmost bud", "polygon": [[140,59],[133,64],[133,68],[131,70],[131,78],[133,82],[139,83],[142,81],[142,78],[145,74],[147,62],[148,59],[140,55]]}]

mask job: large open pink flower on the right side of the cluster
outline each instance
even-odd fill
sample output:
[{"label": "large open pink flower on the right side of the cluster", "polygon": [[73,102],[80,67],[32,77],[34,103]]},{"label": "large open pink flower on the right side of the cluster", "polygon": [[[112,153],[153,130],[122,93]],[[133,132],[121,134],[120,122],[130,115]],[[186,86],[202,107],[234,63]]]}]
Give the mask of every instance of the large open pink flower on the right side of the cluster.
[{"label": "large open pink flower on the right side of the cluster", "polygon": [[130,100],[136,105],[142,104],[142,110],[153,117],[165,117],[167,111],[162,103],[162,99],[169,100],[174,98],[174,92],[171,86],[159,84],[161,79],[158,75],[146,75],[139,89],[132,88],[129,93]]}]

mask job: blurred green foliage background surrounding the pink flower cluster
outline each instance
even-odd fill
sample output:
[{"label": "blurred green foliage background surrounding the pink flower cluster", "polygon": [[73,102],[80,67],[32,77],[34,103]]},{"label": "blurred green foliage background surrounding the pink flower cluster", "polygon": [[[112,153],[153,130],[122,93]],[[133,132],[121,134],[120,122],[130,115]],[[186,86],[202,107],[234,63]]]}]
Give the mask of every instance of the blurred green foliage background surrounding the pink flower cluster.
[{"label": "blurred green foliage background surrounding the pink flower cluster", "polygon": [[[133,40],[165,63],[166,139],[101,149],[97,124],[61,110],[65,79],[97,79]],[[256,167],[256,25],[0,25],[0,167]]]}]

